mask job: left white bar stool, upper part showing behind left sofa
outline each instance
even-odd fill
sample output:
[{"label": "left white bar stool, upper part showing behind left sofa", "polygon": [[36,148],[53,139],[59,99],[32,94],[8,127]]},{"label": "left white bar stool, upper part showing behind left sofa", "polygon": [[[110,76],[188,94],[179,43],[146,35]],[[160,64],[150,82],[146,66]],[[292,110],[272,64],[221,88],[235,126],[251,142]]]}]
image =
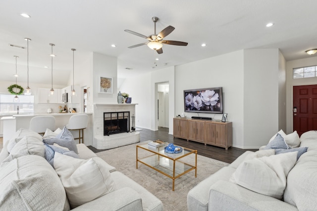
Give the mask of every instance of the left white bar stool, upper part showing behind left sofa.
[{"label": "left white bar stool, upper part showing behind left sofa", "polygon": [[53,116],[37,116],[30,120],[29,129],[44,134],[46,129],[55,130],[55,118]]}]

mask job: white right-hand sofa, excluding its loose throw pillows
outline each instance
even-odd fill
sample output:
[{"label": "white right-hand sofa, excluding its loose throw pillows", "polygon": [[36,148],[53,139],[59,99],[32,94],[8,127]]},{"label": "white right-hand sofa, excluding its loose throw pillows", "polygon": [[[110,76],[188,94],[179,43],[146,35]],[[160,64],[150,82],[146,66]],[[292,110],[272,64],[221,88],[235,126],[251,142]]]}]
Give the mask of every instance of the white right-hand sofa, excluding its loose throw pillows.
[{"label": "white right-hand sofa, excluding its loose throw pillows", "polygon": [[[232,175],[240,164],[245,162],[248,156],[257,153],[247,151],[232,164],[218,170],[189,191],[188,211],[317,210],[317,131],[303,133],[300,147],[308,147],[307,152],[302,154],[297,162],[295,159],[295,166],[286,175],[283,199],[260,194],[232,182]],[[274,184],[274,180],[271,182]]]}]

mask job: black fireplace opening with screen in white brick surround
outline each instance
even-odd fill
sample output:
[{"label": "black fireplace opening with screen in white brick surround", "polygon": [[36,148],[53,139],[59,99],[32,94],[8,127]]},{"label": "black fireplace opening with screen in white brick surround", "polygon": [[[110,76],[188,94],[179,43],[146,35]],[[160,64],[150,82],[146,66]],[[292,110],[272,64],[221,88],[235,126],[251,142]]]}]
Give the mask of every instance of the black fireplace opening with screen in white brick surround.
[{"label": "black fireplace opening with screen in white brick surround", "polygon": [[104,113],[104,135],[129,132],[130,112]]}]

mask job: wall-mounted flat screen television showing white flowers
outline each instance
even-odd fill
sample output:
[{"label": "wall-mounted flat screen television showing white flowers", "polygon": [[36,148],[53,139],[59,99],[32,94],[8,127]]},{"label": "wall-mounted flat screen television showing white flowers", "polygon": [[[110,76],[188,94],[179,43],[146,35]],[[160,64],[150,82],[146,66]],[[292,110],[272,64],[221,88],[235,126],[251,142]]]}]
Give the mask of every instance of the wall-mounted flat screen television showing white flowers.
[{"label": "wall-mounted flat screen television showing white flowers", "polygon": [[184,90],[185,112],[222,114],[222,87]]}]

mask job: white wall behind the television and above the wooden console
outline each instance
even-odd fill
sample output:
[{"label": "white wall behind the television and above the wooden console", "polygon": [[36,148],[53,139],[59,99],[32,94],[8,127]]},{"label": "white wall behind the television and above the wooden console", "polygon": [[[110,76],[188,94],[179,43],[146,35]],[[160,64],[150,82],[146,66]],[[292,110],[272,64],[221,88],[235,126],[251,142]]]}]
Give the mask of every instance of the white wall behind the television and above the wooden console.
[{"label": "white wall behind the television and above the wooden console", "polygon": [[[243,147],[243,80],[243,50],[176,66],[175,115],[184,112],[185,89],[222,87],[223,112],[233,122],[233,145]],[[222,114],[186,112],[185,115],[222,118]]]}]

